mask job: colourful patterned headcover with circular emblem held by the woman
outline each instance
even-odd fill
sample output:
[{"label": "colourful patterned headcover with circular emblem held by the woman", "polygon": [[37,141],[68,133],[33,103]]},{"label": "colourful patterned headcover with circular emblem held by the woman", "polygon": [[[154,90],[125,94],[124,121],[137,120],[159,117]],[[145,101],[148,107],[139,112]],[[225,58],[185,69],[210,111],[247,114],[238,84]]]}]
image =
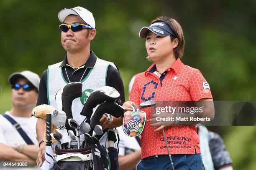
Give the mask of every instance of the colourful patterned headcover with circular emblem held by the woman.
[{"label": "colourful patterned headcover with circular emblem held by the woman", "polygon": [[136,137],[141,135],[146,125],[146,112],[135,109],[127,111],[123,117],[123,131],[126,135]]}]

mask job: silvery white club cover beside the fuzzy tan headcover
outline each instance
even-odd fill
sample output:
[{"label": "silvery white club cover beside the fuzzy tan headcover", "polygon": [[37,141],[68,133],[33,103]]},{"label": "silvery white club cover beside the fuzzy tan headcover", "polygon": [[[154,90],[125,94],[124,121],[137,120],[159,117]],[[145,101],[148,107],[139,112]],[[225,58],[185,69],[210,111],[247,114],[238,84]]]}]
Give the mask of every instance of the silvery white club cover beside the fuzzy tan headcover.
[{"label": "silvery white club cover beside the fuzzy tan headcover", "polygon": [[55,110],[51,112],[51,122],[57,128],[63,128],[67,120],[66,113],[62,110]]}]

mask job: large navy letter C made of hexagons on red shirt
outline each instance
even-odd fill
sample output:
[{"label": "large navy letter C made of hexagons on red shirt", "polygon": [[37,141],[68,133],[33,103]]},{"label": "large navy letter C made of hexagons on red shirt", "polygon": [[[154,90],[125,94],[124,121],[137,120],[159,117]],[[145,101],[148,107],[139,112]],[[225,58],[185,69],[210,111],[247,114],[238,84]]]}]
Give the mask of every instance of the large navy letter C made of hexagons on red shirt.
[{"label": "large navy letter C made of hexagons on red shirt", "polygon": [[151,80],[150,82],[146,83],[143,86],[143,91],[141,94],[141,100],[144,102],[154,99],[155,94],[156,94],[156,89],[157,89],[158,83],[155,82],[154,80]]}]

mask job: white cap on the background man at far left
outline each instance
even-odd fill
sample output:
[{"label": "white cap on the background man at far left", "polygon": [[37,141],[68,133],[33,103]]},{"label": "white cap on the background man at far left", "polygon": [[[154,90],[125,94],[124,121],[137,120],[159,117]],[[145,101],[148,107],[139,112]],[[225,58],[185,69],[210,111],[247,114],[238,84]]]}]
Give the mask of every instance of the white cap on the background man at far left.
[{"label": "white cap on the background man at far left", "polygon": [[32,83],[32,85],[36,87],[37,91],[39,91],[40,77],[36,73],[27,70],[22,72],[14,72],[9,77],[10,84],[13,85],[19,78],[26,78]]}]

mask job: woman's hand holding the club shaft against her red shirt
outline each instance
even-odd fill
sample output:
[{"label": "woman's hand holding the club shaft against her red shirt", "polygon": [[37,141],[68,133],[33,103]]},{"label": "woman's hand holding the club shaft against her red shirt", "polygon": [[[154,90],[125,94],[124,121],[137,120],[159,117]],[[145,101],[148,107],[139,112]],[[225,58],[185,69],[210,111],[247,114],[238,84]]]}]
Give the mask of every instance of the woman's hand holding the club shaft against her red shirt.
[{"label": "woman's hand holding the club shaft against her red shirt", "polygon": [[[171,120],[171,117],[173,117],[173,120]],[[166,120],[168,118],[168,120]],[[147,120],[147,122],[151,122],[150,126],[160,126],[154,132],[158,132],[159,130],[162,130],[166,126],[173,125],[175,121],[175,114],[161,112],[160,114],[154,113],[151,115],[151,119]]]}]

